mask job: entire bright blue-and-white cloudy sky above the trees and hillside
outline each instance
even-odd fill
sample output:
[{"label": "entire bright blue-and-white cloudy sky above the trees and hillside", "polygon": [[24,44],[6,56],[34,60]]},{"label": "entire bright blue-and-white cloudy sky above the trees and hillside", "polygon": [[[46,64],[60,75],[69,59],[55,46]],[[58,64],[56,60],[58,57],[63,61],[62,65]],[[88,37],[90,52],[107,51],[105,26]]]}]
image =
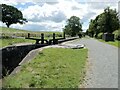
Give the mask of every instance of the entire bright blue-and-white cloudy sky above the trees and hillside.
[{"label": "entire bright blue-and-white cloudy sky above the trees and hillside", "polygon": [[[0,0],[0,4],[12,5],[22,11],[28,23],[10,27],[31,31],[62,31],[66,20],[75,15],[81,19],[82,29],[89,26],[90,19],[110,6],[118,10],[119,0]],[[5,26],[0,22],[0,26]]]}]

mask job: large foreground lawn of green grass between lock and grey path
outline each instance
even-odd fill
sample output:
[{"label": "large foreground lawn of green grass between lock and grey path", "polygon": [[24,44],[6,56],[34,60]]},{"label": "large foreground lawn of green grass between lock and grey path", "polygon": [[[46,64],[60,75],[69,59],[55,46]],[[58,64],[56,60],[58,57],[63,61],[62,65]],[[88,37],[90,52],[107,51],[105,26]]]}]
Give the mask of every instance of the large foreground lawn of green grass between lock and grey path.
[{"label": "large foreground lawn of green grass between lock and grey path", "polygon": [[85,76],[87,49],[48,48],[3,80],[8,88],[77,88]]}]

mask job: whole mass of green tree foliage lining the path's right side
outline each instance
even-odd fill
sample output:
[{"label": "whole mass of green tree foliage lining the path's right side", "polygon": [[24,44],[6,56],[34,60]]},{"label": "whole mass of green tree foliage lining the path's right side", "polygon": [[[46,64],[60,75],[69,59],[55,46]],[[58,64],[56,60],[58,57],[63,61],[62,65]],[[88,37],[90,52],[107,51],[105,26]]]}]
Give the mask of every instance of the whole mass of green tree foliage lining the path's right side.
[{"label": "whole mass of green tree foliage lining the path's right side", "polygon": [[112,33],[120,27],[118,13],[116,10],[109,7],[104,9],[104,12],[96,16],[94,20],[90,21],[87,33],[95,35],[98,33]]}]

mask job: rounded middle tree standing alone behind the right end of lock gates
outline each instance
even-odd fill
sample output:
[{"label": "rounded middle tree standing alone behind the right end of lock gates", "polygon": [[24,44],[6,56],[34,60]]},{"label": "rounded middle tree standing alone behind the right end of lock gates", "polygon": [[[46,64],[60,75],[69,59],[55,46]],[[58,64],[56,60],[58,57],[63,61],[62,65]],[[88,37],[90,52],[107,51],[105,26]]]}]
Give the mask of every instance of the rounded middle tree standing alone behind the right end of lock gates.
[{"label": "rounded middle tree standing alone behind the right end of lock gates", "polygon": [[82,24],[80,23],[80,18],[76,16],[71,16],[67,20],[67,25],[64,27],[64,32],[70,36],[76,36],[82,31]]}]

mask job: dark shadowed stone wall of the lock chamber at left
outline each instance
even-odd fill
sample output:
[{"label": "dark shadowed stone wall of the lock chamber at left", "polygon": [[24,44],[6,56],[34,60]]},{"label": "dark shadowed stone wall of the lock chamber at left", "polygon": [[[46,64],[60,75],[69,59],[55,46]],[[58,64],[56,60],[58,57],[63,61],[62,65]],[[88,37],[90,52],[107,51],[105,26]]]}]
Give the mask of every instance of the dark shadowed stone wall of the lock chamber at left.
[{"label": "dark shadowed stone wall of the lock chamber at left", "polygon": [[2,48],[2,75],[10,74],[23,58],[33,49],[47,46],[47,44],[32,44],[22,46],[9,46]]}]

